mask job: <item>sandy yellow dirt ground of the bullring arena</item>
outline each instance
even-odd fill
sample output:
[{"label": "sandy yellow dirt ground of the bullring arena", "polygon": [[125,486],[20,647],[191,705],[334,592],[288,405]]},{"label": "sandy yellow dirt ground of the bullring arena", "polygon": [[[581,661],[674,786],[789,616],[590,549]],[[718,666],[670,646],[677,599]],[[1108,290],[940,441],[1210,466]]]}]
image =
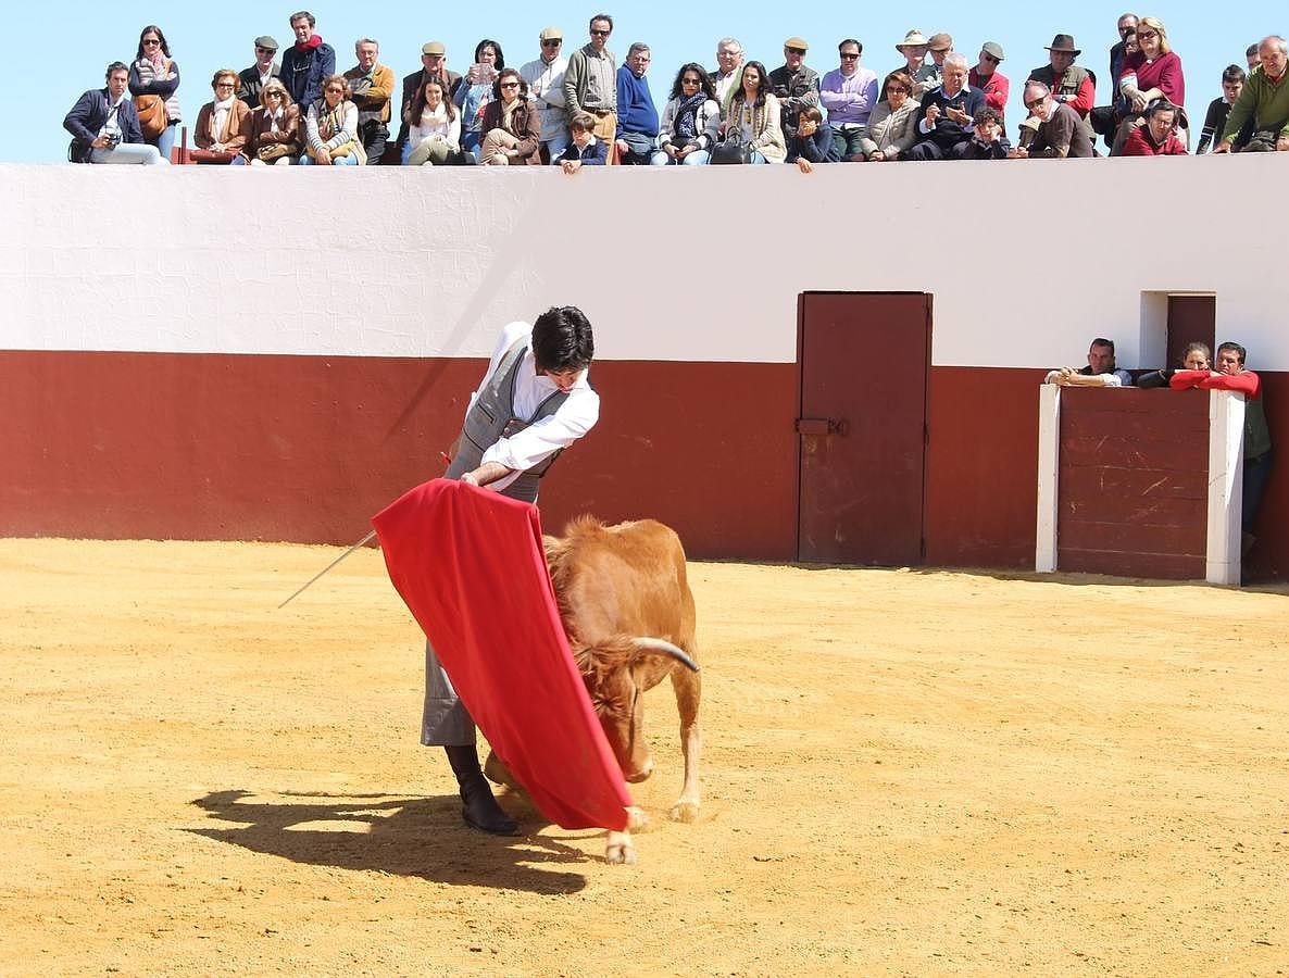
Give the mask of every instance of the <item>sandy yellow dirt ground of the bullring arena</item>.
[{"label": "sandy yellow dirt ground of the bullring arena", "polygon": [[1289,602],[692,564],[639,862],[467,830],[375,550],[0,540],[0,973],[1283,974]]}]

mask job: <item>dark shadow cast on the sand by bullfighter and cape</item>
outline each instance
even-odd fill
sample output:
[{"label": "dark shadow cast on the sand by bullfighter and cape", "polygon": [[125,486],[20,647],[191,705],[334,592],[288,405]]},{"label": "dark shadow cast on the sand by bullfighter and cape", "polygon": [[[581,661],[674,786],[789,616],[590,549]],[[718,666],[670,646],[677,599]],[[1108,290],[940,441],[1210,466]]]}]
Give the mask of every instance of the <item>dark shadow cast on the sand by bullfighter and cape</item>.
[{"label": "dark shadow cast on the sand by bullfighter and cape", "polygon": [[[233,825],[187,831],[313,866],[531,893],[576,893],[586,885],[580,872],[554,868],[585,863],[584,852],[549,836],[499,838],[467,829],[456,795],[281,791],[271,796],[213,791],[192,804]],[[517,814],[528,825],[544,823],[535,809]]]}]

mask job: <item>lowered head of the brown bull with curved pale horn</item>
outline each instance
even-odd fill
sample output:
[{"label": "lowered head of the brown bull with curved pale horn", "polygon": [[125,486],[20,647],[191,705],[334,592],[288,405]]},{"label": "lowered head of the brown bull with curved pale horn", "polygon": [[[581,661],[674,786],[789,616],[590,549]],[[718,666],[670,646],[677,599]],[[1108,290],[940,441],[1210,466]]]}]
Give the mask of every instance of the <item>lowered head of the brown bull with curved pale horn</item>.
[{"label": "lowered head of the brown bull with curved pale horn", "polygon": [[574,655],[623,777],[632,783],[643,781],[654,771],[654,759],[643,733],[641,693],[657,684],[677,662],[693,671],[697,664],[670,642],[626,635],[594,648],[575,648]]}]

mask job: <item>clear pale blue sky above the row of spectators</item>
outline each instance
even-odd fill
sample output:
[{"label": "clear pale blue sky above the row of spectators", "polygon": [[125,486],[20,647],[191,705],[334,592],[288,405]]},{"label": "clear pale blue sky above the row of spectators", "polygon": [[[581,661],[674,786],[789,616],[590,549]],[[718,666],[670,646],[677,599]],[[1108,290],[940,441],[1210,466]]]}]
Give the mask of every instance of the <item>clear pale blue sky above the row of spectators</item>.
[{"label": "clear pale blue sky above the row of spectators", "polygon": [[[806,63],[821,75],[837,67],[837,44],[857,37],[864,45],[861,63],[878,75],[898,67],[895,44],[910,27],[923,34],[949,31],[956,50],[974,64],[984,41],[1003,45],[1002,71],[1012,80],[1008,104],[1008,135],[1014,139],[1016,122],[1022,115],[1020,85],[1029,72],[1047,63],[1044,45],[1057,32],[1072,34],[1083,49],[1079,63],[1097,75],[1097,103],[1109,101],[1107,52],[1118,40],[1115,22],[1129,9],[1103,0],[1080,4],[963,4],[920,1],[914,4],[865,4],[847,9],[829,0],[812,4],[731,4],[722,0],[652,0],[614,3],[602,8],[544,3],[445,3],[424,4],[409,0],[379,3],[309,3],[317,18],[317,31],[336,50],[336,68],[356,63],[353,43],[371,36],[380,43],[380,61],[401,77],[420,67],[420,45],[429,40],[447,45],[449,67],[463,71],[472,61],[474,45],[483,37],[501,44],[507,64],[516,67],[538,57],[538,34],[547,24],[565,31],[565,49],[571,53],[586,40],[590,14],[603,10],[614,17],[610,39],[621,63],[628,45],[644,41],[652,48],[650,81],[654,101],[661,111],[670,93],[675,71],[687,61],[708,68],[715,64],[715,43],[726,35],[737,37],[749,58],[764,62],[767,70],[782,63],[782,43],[799,35],[809,43]],[[791,8],[791,9],[789,9]],[[267,4],[157,4],[138,0],[82,3],[70,0],[45,9],[39,3],[4,4],[0,36],[9,39],[12,50],[24,50],[34,61],[22,71],[35,71],[49,61],[54,71],[41,79],[15,81],[10,125],[0,128],[0,161],[61,162],[67,158],[68,134],[63,116],[85,89],[103,86],[108,62],[130,62],[144,24],[157,23],[170,43],[179,64],[179,99],[184,121],[191,124],[201,106],[210,101],[210,76],[217,68],[241,70],[254,62],[253,40],[272,35],[284,48],[293,43],[287,18],[294,6]],[[1168,27],[1173,49],[1186,71],[1187,108],[1199,120],[1209,101],[1221,94],[1221,73],[1227,64],[1244,63],[1244,49],[1268,34],[1289,35],[1289,5],[1252,0],[1226,6],[1217,3],[1174,0],[1164,9],[1134,13],[1154,14]],[[54,23],[50,23],[54,21]]]}]

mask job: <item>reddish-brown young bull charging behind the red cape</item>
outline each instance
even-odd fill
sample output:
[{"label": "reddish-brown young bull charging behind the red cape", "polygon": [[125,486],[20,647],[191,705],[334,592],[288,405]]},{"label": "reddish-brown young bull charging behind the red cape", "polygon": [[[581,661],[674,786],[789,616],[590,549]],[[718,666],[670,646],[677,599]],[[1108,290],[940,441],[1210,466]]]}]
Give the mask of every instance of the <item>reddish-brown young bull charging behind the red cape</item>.
[{"label": "reddish-brown young bull charging behind the red cape", "polygon": [[[672,676],[684,785],[670,814],[681,822],[695,821],[701,679],[681,539],[652,519],[606,527],[580,517],[562,539],[545,537],[545,550],[568,646],[629,782],[643,781],[654,771],[641,693]],[[489,760],[490,776],[503,780],[495,774],[495,760]],[[639,829],[644,821],[643,812],[633,808],[630,827]],[[634,862],[630,834],[610,832],[605,854],[610,862]]]}]

